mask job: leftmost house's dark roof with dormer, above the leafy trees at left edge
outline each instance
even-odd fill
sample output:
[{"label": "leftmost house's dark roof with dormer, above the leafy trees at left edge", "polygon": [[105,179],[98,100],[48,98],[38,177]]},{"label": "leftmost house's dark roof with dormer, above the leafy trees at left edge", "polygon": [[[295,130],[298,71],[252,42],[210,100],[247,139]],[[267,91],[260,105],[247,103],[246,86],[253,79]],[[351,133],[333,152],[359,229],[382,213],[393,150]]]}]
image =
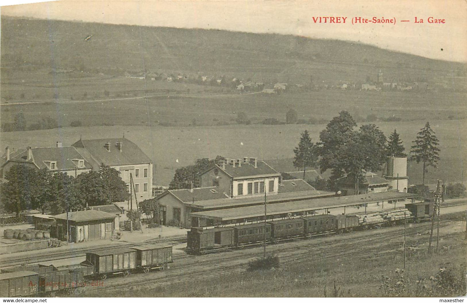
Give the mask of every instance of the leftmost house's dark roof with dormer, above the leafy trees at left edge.
[{"label": "leftmost house's dark roof with dormer, above the leafy trees at left edge", "polygon": [[[72,159],[85,158],[78,153],[78,150],[72,146],[66,147],[50,147],[50,148],[31,148],[32,158],[28,158],[28,149],[21,148],[13,153],[10,153],[10,161],[14,162],[30,162],[35,163],[39,169],[48,169],[44,161],[57,162],[56,170],[69,170],[75,169],[75,162]],[[6,162],[6,154],[2,156],[3,162]],[[91,164],[85,160],[85,167],[79,169],[92,169]]]}]

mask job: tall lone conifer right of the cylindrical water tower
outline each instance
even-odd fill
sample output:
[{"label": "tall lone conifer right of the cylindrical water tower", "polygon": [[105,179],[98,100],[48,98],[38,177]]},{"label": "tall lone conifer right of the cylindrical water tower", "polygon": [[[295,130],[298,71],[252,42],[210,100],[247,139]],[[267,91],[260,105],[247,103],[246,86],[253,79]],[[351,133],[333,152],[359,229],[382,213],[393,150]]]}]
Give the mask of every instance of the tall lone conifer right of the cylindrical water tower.
[{"label": "tall lone conifer right of the cylindrical water tower", "polygon": [[425,172],[427,171],[427,166],[436,167],[436,164],[439,160],[438,148],[439,140],[435,136],[430,127],[430,123],[426,122],[425,127],[423,127],[417,135],[415,141],[412,141],[414,145],[410,150],[410,160],[416,161],[417,163],[423,163],[423,179],[422,184],[425,184]]}]

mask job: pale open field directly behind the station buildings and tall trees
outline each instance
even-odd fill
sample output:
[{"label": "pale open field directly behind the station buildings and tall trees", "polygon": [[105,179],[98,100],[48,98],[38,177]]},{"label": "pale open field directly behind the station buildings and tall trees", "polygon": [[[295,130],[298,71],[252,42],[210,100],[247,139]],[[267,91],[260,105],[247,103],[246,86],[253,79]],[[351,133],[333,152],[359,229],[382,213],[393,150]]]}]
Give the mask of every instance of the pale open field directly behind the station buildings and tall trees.
[{"label": "pale open field directly behind the station buildings and tall trees", "polygon": [[[425,120],[378,122],[389,135],[394,128],[400,134],[406,151]],[[467,171],[467,120],[430,120],[441,148],[438,168],[429,168],[427,183],[441,178],[460,181]],[[291,158],[300,134],[307,129],[313,141],[325,125],[229,125],[210,127],[65,127],[50,130],[1,133],[0,148],[49,147],[56,141],[64,146],[83,139],[125,137],[134,141],[156,164],[155,183],[166,185],[177,168],[192,164],[198,158],[243,156],[260,159]],[[178,159],[178,162],[176,162]],[[409,164],[409,183],[421,183],[421,165]],[[465,180],[465,175],[464,175]]]}]

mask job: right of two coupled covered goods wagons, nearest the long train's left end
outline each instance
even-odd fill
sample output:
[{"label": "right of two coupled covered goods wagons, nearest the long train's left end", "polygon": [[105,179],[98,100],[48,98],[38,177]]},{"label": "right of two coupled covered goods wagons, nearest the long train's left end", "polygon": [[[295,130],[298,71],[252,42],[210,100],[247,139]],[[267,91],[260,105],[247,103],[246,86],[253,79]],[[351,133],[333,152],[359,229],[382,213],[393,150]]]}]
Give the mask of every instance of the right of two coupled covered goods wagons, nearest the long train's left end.
[{"label": "right of two coupled covered goods wagons, nearest the long train's left end", "polygon": [[137,268],[149,273],[151,269],[163,270],[172,262],[172,246],[166,244],[145,244],[130,247],[136,251]]}]

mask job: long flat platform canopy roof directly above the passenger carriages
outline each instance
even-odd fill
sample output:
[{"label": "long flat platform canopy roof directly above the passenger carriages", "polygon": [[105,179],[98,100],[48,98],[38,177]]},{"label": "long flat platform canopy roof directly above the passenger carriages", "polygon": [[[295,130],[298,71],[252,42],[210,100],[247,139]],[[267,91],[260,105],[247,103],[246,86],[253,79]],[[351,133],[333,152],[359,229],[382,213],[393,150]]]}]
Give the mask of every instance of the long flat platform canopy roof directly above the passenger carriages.
[{"label": "long flat platform canopy roof directly above the passenger carriages", "polygon": [[[268,204],[266,214],[280,215],[301,211],[316,211],[336,207],[372,204],[385,201],[397,201],[414,198],[417,195],[405,192],[379,192],[342,197],[328,197],[314,200],[293,201]],[[264,216],[264,205],[226,208],[213,211],[192,212],[191,217],[214,219],[219,221],[235,220]]]}]

